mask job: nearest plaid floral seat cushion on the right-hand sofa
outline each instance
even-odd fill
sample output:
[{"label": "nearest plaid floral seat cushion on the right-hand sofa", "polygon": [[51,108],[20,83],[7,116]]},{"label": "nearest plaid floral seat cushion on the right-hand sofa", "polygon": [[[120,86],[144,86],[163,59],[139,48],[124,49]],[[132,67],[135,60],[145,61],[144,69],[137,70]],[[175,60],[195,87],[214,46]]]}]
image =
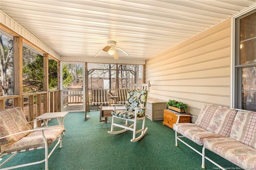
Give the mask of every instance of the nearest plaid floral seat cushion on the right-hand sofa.
[{"label": "nearest plaid floral seat cushion on the right-hand sofa", "polygon": [[244,169],[256,170],[256,150],[232,138],[204,138],[204,147]]}]

